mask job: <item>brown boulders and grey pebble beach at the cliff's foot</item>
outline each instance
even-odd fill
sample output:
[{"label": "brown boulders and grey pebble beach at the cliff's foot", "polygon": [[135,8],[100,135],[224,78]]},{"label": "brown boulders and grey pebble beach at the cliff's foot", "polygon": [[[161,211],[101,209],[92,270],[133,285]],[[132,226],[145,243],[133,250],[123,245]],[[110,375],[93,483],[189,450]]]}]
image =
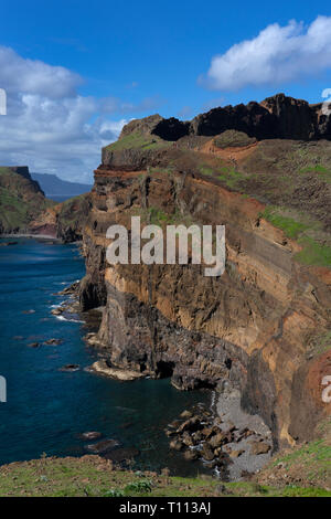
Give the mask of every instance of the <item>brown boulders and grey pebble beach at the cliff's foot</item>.
[{"label": "brown boulders and grey pebble beach at the cliff's foot", "polygon": [[169,424],[169,448],[202,462],[222,480],[250,478],[270,459],[271,432],[258,415],[242,410],[238,391],[225,388],[214,396],[211,409],[194,406]]}]

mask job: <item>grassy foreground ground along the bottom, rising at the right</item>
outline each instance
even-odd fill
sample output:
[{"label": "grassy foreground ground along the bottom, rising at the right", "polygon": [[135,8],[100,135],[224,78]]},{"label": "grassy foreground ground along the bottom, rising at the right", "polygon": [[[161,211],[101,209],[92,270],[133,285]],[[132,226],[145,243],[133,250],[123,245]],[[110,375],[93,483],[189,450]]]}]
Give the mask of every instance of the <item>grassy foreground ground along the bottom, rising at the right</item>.
[{"label": "grassy foreground ground along the bottom, rising at the right", "polygon": [[[94,455],[81,458],[42,457],[0,467],[0,496],[331,497],[331,488],[327,486],[330,484],[330,446],[311,444],[274,458],[258,480],[227,484],[211,476],[184,478],[171,477],[164,473],[158,475],[151,472],[115,469],[111,462]],[[313,467],[312,473],[309,468],[310,480],[302,477],[305,465],[307,468]],[[297,484],[296,472],[299,469],[300,484]],[[260,483],[264,479],[267,484]]]}]

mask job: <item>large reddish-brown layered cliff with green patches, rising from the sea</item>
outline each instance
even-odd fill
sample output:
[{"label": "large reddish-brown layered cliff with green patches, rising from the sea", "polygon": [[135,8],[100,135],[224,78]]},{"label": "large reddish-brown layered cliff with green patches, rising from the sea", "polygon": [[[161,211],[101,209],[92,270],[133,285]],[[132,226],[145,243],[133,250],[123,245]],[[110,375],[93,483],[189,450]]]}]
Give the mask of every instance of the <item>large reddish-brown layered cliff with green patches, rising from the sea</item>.
[{"label": "large reddish-brown layered cliff with green patches, rising from the sea", "polygon": [[[288,102],[276,96],[265,103],[267,108],[246,107],[254,117],[260,115],[249,120],[276,131],[268,126],[270,114],[286,135],[292,125]],[[311,109],[290,103],[290,114],[292,107],[295,113]],[[246,108],[238,108],[242,131]],[[113,364],[171,377],[183,390],[232,384],[241,389],[243,406],[271,427],[275,446],[293,444],[313,436],[330,413],[321,399],[322,378],[331,367],[329,220],[316,203],[307,203],[303,218],[297,200],[311,178],[314,192],[323,191],[330,203],[329,144],[318,145],[319,160],[327,157],[319,167],[310,144],[246,139],[247,145],[241,137],[234,141],[243,146],[220,148],[206,137],[222,133],[217,118],[212,124],[199,117],[190,126],[195,135],[177,140],[173,133],[183,127],[174,131],[172,120],[173,141],[159,116],[132,121],[118,142],[104,149],[84,235],[82,306],[105,305],[96,343]],[[161,123],[163,138],[156,134]],[[217,139],[224,142],[222,135]],[[292,158],[297,151],[298,160]],[[108,226],[130,229],[132,215],[162,227],[225,224],[225,273],[205,277],[203,266],[192,264],[107,264]]]}]

